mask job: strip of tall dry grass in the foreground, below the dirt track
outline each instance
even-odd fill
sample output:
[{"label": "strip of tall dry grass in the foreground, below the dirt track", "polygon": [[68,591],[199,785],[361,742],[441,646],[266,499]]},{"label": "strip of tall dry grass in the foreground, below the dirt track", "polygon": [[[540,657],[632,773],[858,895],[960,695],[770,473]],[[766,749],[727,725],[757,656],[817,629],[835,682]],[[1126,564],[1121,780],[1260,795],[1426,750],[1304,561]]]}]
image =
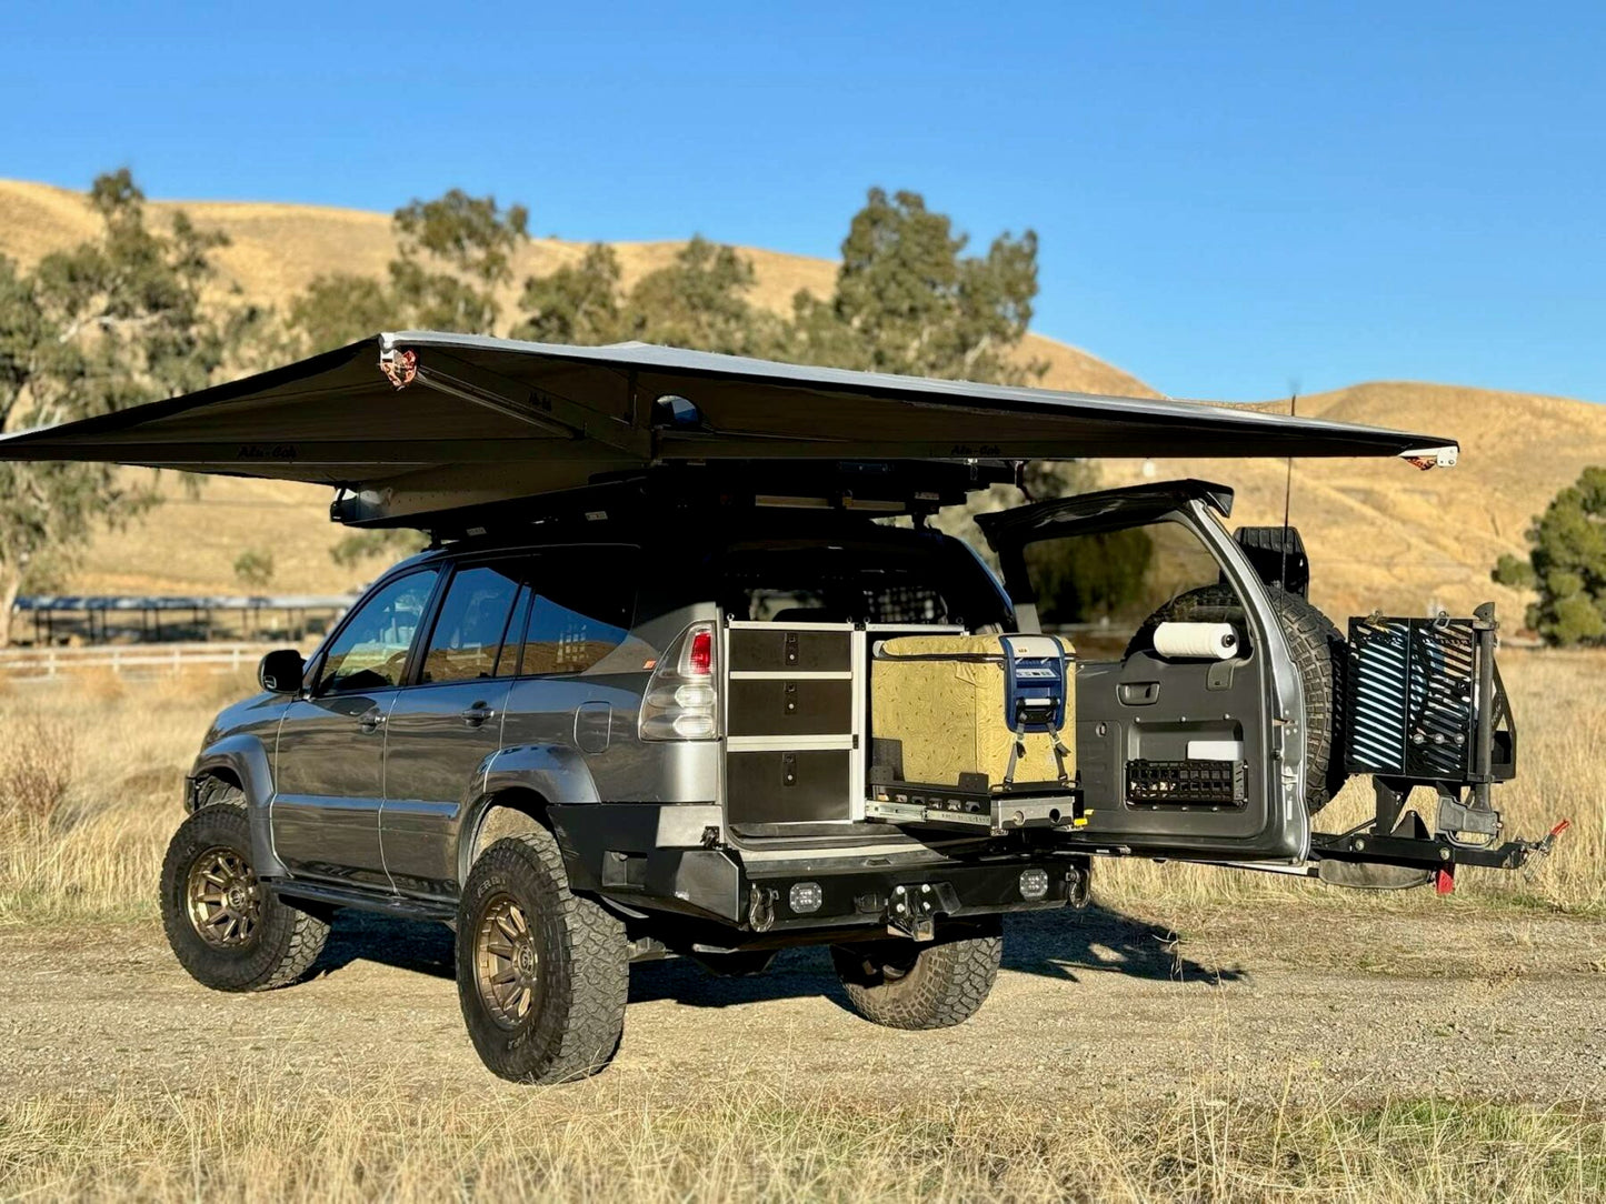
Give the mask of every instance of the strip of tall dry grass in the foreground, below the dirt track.
[{"label": "strip of tall dry grass in the foreground, below the dirt track", "polygon": [[1579,1106],[1248,1106],[822,1087],[663,1093],[382,1082],[340,1093],[218,1068],[181,1093],[0,1096],[0,1194],[74,1199],[1590,1201],[1606,1124]]}]

